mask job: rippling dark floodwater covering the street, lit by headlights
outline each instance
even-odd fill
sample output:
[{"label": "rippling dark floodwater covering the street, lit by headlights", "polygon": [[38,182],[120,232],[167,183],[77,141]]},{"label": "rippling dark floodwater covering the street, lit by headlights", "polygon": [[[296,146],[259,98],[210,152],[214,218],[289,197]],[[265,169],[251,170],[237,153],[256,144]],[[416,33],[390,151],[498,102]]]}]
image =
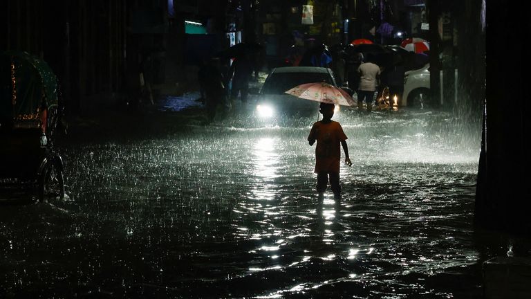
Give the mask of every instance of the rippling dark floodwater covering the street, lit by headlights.
[{"label": "rippling dark floodwater covering the street, lit by headlights", "polygon": [[1,206],[0,297],[481,295],[481,262],[507,251],[472,228],[481,125],[344,109],[353,166],[320,201],[316,118],[64,137],[67,199]]}]

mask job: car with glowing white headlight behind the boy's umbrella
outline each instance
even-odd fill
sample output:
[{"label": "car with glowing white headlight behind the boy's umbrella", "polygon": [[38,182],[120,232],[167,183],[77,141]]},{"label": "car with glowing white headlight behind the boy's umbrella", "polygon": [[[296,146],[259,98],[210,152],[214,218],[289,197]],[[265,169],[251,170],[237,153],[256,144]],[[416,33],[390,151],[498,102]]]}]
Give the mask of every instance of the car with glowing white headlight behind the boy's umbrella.
[{"label": "car with glowing white headlight behind the boy's umbrella", "polygon": [[[265,78],[257,98],[257,116],[271,118],[284,114],[310,116],[317,114],[319,103],[290,96],[285,91],[297,85],[312,82],[326,82],[337,87],[331,69],[315,66],[283,66],[273,69]],[[343,87],[348,93],[352,90]],[[339,106],[336,107],[339,109]]]}]

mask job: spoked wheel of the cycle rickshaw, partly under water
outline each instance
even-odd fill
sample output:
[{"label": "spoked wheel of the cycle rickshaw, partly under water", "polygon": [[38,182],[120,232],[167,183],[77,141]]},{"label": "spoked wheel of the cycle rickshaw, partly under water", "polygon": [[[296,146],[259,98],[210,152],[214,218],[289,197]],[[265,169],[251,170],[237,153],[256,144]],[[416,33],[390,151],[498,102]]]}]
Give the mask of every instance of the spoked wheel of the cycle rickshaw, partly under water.
[{"label": "spoked wheel of the cycle rickshaw, partly under water", "polygon": [[64,198],[63,170],[56,163],[49,163],[40,178],[39,201],[48,202],[57,198]]}]

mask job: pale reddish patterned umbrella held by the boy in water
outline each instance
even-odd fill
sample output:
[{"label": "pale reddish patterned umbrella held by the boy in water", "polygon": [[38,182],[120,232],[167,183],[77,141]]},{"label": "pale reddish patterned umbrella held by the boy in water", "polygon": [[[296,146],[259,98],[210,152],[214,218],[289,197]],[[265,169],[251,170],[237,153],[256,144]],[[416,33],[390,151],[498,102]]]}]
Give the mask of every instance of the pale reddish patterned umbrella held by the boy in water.
[{"label": "pale reddish patterned umbrella held by the boy in water", "polygon": [[356,104],[346,91],[325,82],[300,84],[288,91],[284,91],[284,93],[297,98],[328,104],[343,106],[354,106]]}]

